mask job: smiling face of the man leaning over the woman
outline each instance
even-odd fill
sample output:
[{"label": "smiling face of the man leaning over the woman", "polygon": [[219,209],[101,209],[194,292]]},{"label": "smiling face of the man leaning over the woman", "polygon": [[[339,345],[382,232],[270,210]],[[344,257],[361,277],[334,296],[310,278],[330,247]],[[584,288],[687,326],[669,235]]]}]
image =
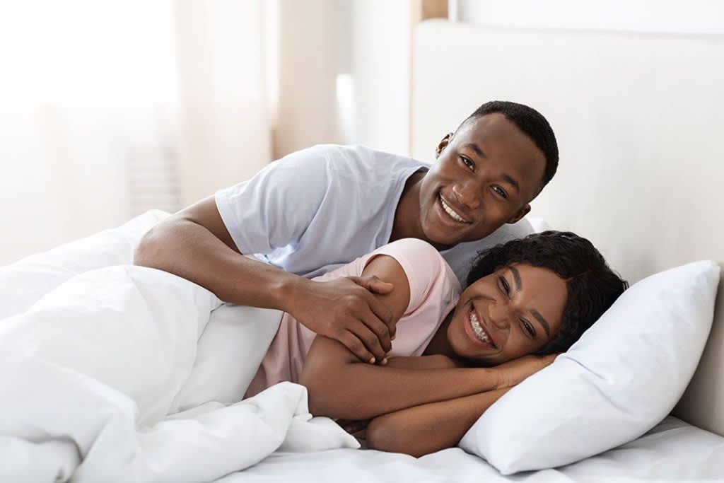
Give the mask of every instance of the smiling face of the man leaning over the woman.
[{"label": "smiling face of the man leaning over the woman", "polygon": [[503,114],[468,120],[439,143],[420,185],[420,223],[432,244],[479,240],[525,216],[539,192],[545,157]]}]

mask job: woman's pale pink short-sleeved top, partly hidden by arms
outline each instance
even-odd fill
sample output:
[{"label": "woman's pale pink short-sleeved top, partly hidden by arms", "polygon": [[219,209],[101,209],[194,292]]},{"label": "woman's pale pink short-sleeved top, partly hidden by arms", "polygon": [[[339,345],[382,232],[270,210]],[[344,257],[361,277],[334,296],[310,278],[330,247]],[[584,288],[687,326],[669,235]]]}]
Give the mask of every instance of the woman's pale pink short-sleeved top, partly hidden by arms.
[{"label": "woman's pale pink short-sleeved top, partly hidden by arms", "polygon": [[[416,238],[397,240],[312,280],[325,282],[361,275],[377,255],[397,260],[410,282],[410,304],[397,322],[390,356],[421,356],[442,320],[455,307],[461,291],[455,273],[432,245]],[[277,382],[298,382],[315,336],[292,316],[284,314],[245,397],[251,398]]]}]

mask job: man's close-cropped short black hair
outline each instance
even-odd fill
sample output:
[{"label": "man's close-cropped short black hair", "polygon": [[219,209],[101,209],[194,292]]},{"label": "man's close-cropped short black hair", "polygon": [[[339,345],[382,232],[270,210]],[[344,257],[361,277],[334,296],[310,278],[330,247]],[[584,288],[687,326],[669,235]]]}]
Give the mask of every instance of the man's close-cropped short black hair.
[{"label": "man's close-cropped short black hair", "polygon": [[[552,127],[543,114],[525,104],[518,104],[510,101],[489,101],[480,106],[470,114],[461,124],[464,125],[470,119],[478,119],[487,114],[500,112],[510,122],[513,122],[523,134],[527,135],[545,156],[545,171],[541,188],[552,180],[558,169],[558,143]],[[458,127],[460,129],[460,127]]]}]

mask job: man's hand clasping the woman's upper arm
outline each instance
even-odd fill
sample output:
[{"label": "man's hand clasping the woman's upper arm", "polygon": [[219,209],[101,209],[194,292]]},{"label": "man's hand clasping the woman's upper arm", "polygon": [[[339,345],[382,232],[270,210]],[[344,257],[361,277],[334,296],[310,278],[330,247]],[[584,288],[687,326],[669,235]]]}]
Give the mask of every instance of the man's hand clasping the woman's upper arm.
[{"label": "man's hand clasping the woman's upper arm", "polygon": [[377,277],[307,280],[294,291],[286,311],[313,332],[340,341],[361,361],[382,364],[392,349],[397,321],[373,292],[386,294],[393,288]]}]

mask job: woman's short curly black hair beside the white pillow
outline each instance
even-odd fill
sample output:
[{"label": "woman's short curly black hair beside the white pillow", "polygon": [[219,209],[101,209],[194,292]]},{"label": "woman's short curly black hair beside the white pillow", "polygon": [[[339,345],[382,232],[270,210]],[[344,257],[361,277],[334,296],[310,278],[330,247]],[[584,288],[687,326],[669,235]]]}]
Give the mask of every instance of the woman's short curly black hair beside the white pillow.
[{"label": "woman's short curly black hair beside the white pillow", "polygon": [[552,270],[565,280],[568,290],[560,329],[539,355],[568,350],[628,288],[589,240],[556,231],[534,233],[481,251],[468,274],[468,285],[515,263]]}]

